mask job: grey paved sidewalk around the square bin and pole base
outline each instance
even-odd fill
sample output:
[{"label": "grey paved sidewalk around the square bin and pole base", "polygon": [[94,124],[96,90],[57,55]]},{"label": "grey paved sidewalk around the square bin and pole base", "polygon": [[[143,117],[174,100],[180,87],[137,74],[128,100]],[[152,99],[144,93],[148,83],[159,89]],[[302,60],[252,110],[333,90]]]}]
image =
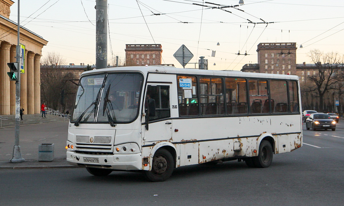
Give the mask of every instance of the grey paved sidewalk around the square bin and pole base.
[{"label": "grey paved sidewalk around the square bin and pole base", "polygon": [[[1,169],[76,168],[66,161],[68,122],[20,126],[19,145],[24,162],[10,162],[13,156],[15,127],[0,128]],[[54,144],[52,162],[39,162],[38,146]]]}]

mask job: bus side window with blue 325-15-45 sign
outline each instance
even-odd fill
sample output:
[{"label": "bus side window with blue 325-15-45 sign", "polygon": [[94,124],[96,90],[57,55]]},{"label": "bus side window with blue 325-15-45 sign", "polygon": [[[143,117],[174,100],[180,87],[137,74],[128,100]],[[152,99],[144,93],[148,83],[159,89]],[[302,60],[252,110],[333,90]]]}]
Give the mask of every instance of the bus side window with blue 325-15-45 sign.
[{"label": "bus side window with blue 325-15-45 sign", "polygon": [[[186,84],[184,84],[185,82]],[[190,82],[190,85],[187,83]],[[186,87],[183,87],[186,86]],[[177,76],[179,116],[197,116],[198,106],[197,79],[194,76]]]}]

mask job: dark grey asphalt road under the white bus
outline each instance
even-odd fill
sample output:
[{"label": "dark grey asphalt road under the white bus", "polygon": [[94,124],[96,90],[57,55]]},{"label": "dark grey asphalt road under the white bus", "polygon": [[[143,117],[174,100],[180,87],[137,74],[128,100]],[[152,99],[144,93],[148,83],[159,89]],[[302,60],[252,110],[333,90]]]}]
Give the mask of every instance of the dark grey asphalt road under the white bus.
[{"label": "dark grey asphalt road under the white bus", "polygon": [[237,161],[192,165],[158,183],[133,172],[0,170],[0,205],[342,205],[343,122],[336,131],[303,129],[303,147],[275,155],[264,169]]}]

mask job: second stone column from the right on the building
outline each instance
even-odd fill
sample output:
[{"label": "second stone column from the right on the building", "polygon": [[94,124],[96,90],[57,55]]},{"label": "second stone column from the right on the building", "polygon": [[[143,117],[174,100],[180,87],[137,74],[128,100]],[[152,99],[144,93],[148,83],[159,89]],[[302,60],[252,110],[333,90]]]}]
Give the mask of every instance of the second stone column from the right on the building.
[{"label": "second stone column from the right on the building", "polygon": [[28,103],[28,113],[27,114],[34,114],[34,109],[35,109],[35,87],[34,87],[34,78],[35,78],[35,73],[34,73],[34,64],[33,64],[33,58],[35,57],[35,53],[33,52],[28,52],[28,66],[26,67],[26,80],[27,80],[27,91],[28,91],[28,96],[27,96],[27,103]]}]

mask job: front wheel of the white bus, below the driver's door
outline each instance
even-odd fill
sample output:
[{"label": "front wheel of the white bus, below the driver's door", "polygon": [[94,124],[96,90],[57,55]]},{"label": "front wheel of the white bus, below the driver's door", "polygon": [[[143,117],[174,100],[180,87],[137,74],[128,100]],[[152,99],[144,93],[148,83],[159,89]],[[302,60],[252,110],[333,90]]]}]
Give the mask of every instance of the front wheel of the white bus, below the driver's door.
[{"label": "front wheel of the white bus, below the driver's door", "polygon": [[173,172],[173,162],[173,157],[168,150],[158,149],[153,156],[152,170],[145,171],[146,177],[152,182],[167,180]]}]

